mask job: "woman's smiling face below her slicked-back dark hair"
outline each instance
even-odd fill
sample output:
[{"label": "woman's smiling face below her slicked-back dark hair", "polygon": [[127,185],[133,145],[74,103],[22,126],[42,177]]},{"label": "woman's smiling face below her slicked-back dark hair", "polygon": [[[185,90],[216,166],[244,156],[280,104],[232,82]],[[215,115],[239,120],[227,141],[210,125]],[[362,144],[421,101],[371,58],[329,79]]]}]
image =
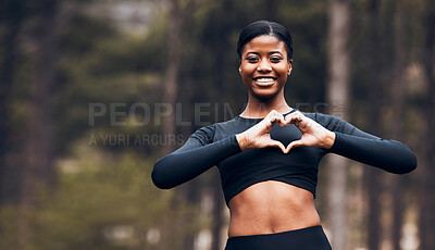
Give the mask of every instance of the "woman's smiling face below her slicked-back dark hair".
[{"label": "woman's smiling face below her slicked-back dark hair", "polygon": [[263,35],[244,46],[239,72],[250,97],[269,100],[284,95],[291,72],[286,45],[274,36]]}]

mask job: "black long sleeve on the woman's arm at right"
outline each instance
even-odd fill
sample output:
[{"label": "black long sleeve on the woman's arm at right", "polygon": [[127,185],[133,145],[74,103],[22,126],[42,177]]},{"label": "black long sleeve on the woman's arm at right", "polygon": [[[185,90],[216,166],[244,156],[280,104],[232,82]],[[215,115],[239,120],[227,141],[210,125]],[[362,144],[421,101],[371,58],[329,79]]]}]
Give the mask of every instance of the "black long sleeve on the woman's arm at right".
[{"label": "black long sleeve on the woman's arm at right", "polygon": [[370,135],[332,115],[316,114],[316,120],[336,135],[330,152],[394,174],[406,174],[417,167],[415,154],[400,141]]}]

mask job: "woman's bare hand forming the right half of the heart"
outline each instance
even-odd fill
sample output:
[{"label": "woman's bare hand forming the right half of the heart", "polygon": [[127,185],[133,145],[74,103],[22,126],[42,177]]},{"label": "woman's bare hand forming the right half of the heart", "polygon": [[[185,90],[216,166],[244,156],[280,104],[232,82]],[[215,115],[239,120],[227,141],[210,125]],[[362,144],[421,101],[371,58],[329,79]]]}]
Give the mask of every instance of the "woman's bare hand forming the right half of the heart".
[{"label": "woman's bare hand forming the right half of the heart", "polygon": [[294,140],[287,146],[287,152],[290,151],[291,148],[300,146],[330,149],[334,145],[335,133],[324,128],[322,125],[304,116],[299,111],[288,114],[285,117],[285,124],[295,124],[295,126],[302,133],[302,137],[299,140]]}]

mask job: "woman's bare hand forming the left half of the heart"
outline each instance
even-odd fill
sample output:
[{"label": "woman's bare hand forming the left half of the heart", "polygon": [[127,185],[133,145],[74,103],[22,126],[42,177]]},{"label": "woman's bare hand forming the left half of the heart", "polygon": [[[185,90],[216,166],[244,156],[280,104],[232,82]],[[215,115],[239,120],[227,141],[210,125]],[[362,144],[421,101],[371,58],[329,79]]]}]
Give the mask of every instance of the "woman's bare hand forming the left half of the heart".
[{"label": "woman's bare hand forming the left half of the heart", "polygon": [[271,138],[270,133],[275,122],[279,124],[279,127],[287,126],[288,124],[281,113],[272,110],[260,123],[236,135],[240,149],[277,147],[284,153],[287,153],[288,150],[281,141]]}]

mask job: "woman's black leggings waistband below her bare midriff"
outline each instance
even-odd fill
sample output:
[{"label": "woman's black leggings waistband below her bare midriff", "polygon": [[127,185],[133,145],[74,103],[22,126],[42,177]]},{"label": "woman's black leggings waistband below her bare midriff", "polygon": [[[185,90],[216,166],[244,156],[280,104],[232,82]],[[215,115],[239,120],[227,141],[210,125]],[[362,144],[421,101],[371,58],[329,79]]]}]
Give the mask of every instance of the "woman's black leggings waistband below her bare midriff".
[{"label": "woman's black leggings waistband below her bare midriff", "polygon": [[322,226],[268,234],[229,237],[225,250],[331,250]]}]

